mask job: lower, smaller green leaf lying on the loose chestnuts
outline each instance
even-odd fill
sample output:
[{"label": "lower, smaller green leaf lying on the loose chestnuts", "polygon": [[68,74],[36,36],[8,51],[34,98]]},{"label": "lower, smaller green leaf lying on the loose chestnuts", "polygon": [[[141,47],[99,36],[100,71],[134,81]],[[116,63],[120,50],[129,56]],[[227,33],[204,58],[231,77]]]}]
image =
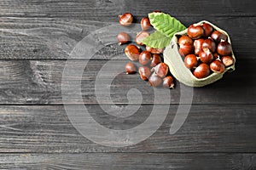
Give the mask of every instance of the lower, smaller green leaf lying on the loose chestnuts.
[{"label": "lower, smaller green leaf lying on the loose chestnuts", "polygon": [[151,48],[165,48],[171,42],[172,38],[166,37],[160,31],[154,31],[150,36],[143,39],[143,43]]}]

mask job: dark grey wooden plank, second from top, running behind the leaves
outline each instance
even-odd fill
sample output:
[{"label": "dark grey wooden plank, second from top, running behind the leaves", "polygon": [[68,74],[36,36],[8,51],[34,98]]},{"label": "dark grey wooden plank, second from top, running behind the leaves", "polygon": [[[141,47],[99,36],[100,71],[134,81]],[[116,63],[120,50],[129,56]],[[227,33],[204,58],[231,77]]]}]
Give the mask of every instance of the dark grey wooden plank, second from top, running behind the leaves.
[{"label": "dark grey wooden plank, second from top, running behind the leaves", "polygon": [[[1,10],[0,10],[1,11]],[[255,17],[178,17],[186,26],[200,20],[209,20],[228,31],[238,59],[255,58],[256,37]],[[116,35],[127,31],[135,37],[140,26],[124,28],[117,20],[104,22],[63,18],[0,18],[1,59],[67,59],[74,47],[78,47],[84,37],[93,33],[93,47],[102,45],[94,56],[76,56],[78,59],[122,59],[124,47],[117,45]],[[110,22],[110,23],[109,23]],[[106,27],[117,25],[115,27]],[[102,29],[101,31],[96,31]],[[96,32],[94,32],[96,31]],[[242,33],[241,33],[242,32]],[[241,41],[242,39],[242,41]],[[83,44],[84,45],[84,44]],[[84,48],[84,46],[79,47]]]}]

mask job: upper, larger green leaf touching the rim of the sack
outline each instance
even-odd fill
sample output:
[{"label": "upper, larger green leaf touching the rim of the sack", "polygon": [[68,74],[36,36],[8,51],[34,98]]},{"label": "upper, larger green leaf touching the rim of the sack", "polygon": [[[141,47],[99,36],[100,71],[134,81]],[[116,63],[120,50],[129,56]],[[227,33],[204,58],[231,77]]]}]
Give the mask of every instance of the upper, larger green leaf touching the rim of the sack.
[{"label": "upper, larger green leaf touching the rim of the sack", "polygon": [[148,18],[155,30],[160,31],[170,38],[172,38],[176,32],[186,29],[186,26],[183,26],[179,20],[176,20],[170,14],[150,13],[148,14]]}]

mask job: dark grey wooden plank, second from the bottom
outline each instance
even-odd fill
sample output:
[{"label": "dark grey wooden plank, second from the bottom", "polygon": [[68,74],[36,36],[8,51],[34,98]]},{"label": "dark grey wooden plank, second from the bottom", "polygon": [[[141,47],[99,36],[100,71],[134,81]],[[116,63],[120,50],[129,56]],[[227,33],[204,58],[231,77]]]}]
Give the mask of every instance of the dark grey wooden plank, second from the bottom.
[{"label": "dark grey wooden plank, second from the bottom", "polygon": [[[108,115],[99,105],[85,106],[90,116],[103,127],[119,130],[143,123],[153,107],[142,105],[134,115],[120,118]],[[155,121],[165,114],[162,108],[153,117]],[[183,126],[170,135],[176,112],[177,105],[170,105],[165,122],[152,136],[141,143],[116,148],[96,144],[82,136],[73,127],[61,105],[1,106],[0,153],[256,152],[256,105],[192,105]],[[92,121],[84,124],[84,127],[96,135],[96,129],[91,125]],[[154,127],[155,123],[151,126]],[[119,139],[114,140],[118,144]]]}]

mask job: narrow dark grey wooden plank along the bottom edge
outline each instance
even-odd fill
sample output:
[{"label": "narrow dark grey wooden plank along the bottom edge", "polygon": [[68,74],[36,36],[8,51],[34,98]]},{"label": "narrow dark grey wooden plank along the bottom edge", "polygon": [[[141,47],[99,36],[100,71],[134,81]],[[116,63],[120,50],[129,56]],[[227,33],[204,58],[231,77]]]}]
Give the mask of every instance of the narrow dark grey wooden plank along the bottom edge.
[{"label": "narrow dark grey wooden plank along the bottom edge", "polygon": [[0,166],[10,169],[254,169],[255,154],[7,154]]}]

